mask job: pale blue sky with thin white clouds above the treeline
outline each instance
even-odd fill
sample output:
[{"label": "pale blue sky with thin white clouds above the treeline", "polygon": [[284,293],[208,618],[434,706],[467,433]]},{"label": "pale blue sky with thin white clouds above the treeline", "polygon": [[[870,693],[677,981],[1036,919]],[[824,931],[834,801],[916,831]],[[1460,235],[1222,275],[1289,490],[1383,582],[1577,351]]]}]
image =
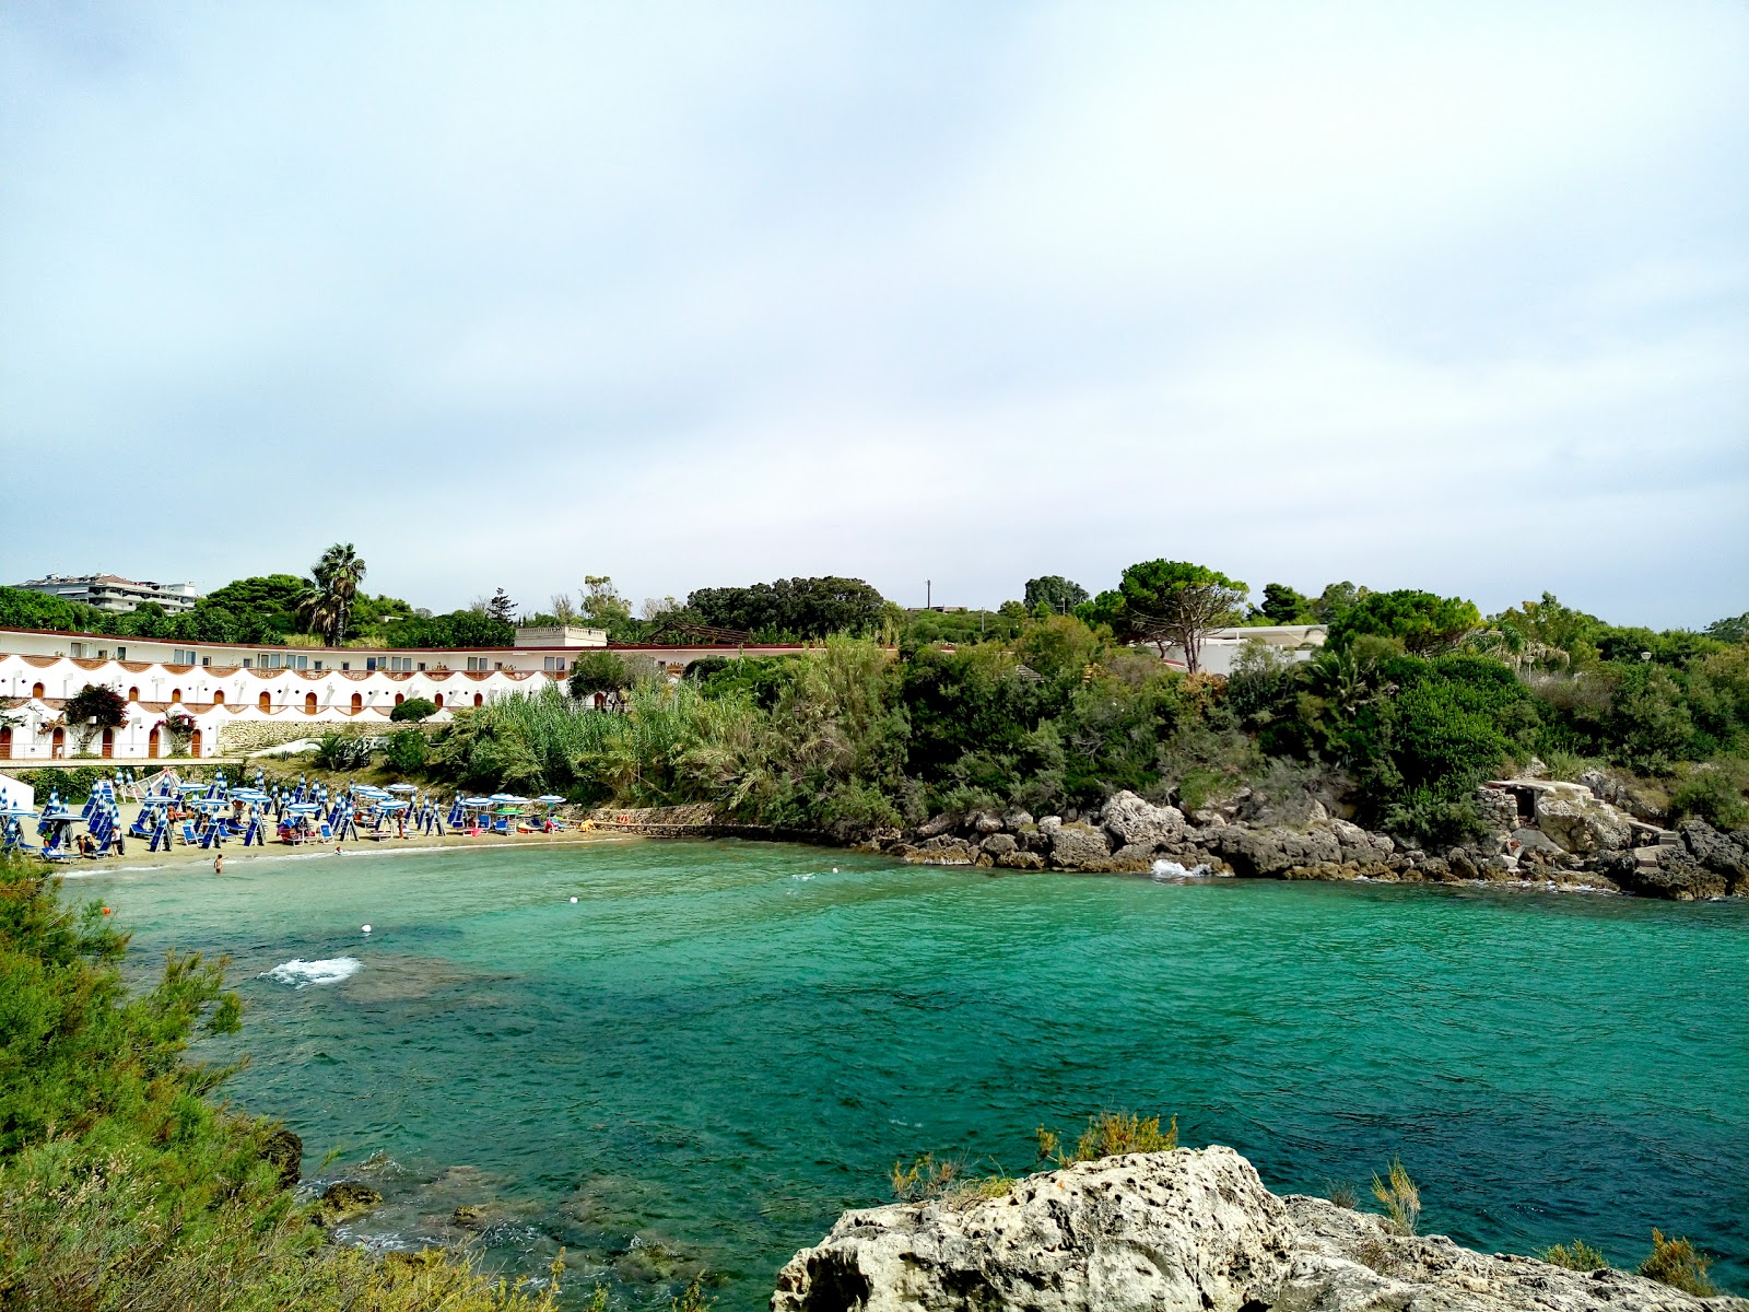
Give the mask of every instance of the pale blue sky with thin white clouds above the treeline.
[{"label": "pale blue sky with thin white clouds above the treeline", "polygon": [[0,7],[0,579],[1749,611],[1749,5]]}]

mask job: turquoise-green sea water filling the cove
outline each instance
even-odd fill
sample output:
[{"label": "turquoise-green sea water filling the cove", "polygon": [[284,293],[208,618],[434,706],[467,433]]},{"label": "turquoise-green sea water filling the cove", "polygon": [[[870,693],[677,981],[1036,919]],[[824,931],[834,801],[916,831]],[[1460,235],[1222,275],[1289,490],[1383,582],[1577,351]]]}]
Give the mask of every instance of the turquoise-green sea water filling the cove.
[{"label": "turquoise-green sea water filling the cove", "polygon": [[[1742,901],[675,841],[196,871],[70,890],[136,929],[142,969],[233,955],[231,1097],[297,1130],[306,1169],[338,1149],[324,1179],[364,1165],[388,1195],[366,1242],[477,1233],[518,1272],[563,1246],[635,1307],[703,1263],[754,1309],[841,1209],[887,1200],[895,1158],[1025,1170],[1039,1123],[1121,1107],[1279,1191],[1401,1153],[1427,1230],[1627,1263],[1656,1225],[1749,1286]],[[334,983],[269,974],[345,959]],[[463,1204],[483,1232],[449,1221]]]}]

